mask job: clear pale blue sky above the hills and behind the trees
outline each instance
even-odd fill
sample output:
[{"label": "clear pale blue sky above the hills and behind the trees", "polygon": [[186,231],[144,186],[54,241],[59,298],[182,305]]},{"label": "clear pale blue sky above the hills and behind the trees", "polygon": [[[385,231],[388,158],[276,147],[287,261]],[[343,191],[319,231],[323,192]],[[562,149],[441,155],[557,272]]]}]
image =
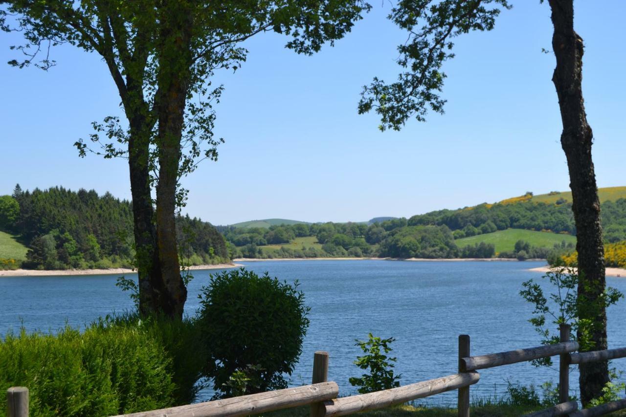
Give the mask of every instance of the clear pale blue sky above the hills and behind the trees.
[{"label": "clear pale blue sky above the hills and behind the trees", "polygon": [[[392,81],[405,35],[387,21],[390,3],[314,56],[259,34],[225,85],[216,135],[218,162],[184,180],[184,210],[213,224],[279,217],[310,222],[362,221],[495,202],[526,191],[568,190],[547,4],[512,2],[495,30],[456,39],[448,61],[445,115],[411,120],[400,132],[377,130],[376,115],[356,112],[372,76]],[[626,185],[626,1],[578,0],[575,26],[585,41],[583,93],[593,128],[599,187]],[[91,121],[121,115],[105,64],[71,46],[54,49],[45,73],[17,70],[0,34],[0,194],[63,185],[130,198],[125,160],[78,158],[73,143]]]}]

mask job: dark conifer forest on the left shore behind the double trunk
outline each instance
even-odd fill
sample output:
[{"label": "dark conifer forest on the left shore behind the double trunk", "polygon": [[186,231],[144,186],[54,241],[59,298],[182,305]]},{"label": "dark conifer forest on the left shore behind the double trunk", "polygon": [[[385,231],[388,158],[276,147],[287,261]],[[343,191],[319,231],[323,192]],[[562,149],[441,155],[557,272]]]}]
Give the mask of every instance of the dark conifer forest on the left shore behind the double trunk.
[{"label": "dark conifer forest on the left shore behind the double trunk", "polygon": [[[93,269],[131,267],[134,258],[132,203],[110,193],[63,187],[0,197],[0,229],[20,235],[29,247],[23,267]],[[207,222],[177,219],[183,262],[228,259],[222,235]]]}]

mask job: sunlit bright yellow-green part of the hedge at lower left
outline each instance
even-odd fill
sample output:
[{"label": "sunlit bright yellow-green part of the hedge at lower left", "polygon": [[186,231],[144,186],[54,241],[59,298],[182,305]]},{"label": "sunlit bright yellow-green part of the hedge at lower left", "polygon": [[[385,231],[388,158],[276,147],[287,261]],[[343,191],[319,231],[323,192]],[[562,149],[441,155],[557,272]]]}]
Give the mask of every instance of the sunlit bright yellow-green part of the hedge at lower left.
[{"label": "sunlit bright yellow-green part of the hedge at lower left", "polygon": [[0,342],[0,390],[26,386],[33,416],[96,416],[174,403],[172,362],[131,327],[91,324],[83,334],[9,333]]}]

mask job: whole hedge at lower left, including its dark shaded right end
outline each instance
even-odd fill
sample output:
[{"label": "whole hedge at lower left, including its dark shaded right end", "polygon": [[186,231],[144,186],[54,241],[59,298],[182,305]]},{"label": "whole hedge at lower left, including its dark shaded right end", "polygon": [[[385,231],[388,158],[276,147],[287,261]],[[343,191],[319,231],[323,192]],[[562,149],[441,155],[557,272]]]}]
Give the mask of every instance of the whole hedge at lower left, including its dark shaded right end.
[{"label": "whole hedge at lower left, including its dark shaded right end", "polygon": [[[9,332],[0,391],[26,386],[33,416],[104,416],[192,403],[206,357],[195,321],[106,319],[84,332]],[[2,408],[4,412],[4,408]],[[1,415],[1,414],[0,414]]]}]

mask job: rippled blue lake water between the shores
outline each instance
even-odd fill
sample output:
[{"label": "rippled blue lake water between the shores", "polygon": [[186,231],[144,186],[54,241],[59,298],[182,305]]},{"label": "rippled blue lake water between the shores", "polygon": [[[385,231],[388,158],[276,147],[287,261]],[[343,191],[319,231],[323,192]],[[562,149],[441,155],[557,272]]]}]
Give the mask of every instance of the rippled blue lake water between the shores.
[{"label": "rippled blue lake water between the shores", "polygon": [[[313,353],[330,354],[329,380],[340,395],[355,393],[348,378],[361,369],[352,361],[362,354],[354,339],[396,337],[393,356],[401,384],[456,373],[458,335],[471,336],[471,352],[486,354],[537,346],[528,323],[532,308],[519,296],[521,283],[541,274],[528,269],[543,262],[410,262],[391,260],[302,260],[241,262],[257,273],[289,282],[298,279],[311,307],[310,327],[292,384],[308,384]],[[185,307],[193,314],[196,294],[216,270],[193,271]],[[132,277],[132,275],[130,275]],[[6,277],[0,279],[0,333],[17,330],[55,331],[67,322],[83,326],[94,319],[130,309],[127,294],[115,287],[115,275],[80,277]],[[626,279],[607,277],[608,285],[626,293]],[[626,301],[608,310],[609,347],[626,346]],[[626,369],[626,361],[613,363]],[[530,363],[480,371],[470,389],[473,397],[501,395],[506,381],[540,385],[558,381],[557,369]],[[578,376],[570,376],[577,394]],[[210,393],[203,393],[206,399]],[[454,404],[456,393],[432,397],[429,403]]]}]

